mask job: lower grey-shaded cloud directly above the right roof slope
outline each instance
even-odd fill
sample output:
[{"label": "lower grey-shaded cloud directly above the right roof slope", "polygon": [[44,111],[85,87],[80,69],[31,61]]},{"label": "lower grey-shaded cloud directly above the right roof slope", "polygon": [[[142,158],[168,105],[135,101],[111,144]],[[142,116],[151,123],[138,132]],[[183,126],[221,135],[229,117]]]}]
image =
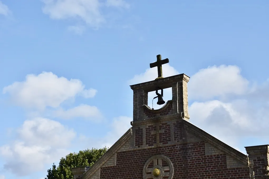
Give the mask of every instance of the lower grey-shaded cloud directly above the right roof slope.
[{"label": "lower grey-shaded cloud directly above the right roof slope", "polygon": [[[245,149],[240,146],[242,140],[247,140],[249,137],[265,140],[269,135],[268,100],[253,102],[249,100],[250,96],[227,102],[219,100],[194,102],[189,107],[190,122],[245,153]],[[261,94],[260,98],[262,97]],[[251,145],[259,144],[248,144]]]}]

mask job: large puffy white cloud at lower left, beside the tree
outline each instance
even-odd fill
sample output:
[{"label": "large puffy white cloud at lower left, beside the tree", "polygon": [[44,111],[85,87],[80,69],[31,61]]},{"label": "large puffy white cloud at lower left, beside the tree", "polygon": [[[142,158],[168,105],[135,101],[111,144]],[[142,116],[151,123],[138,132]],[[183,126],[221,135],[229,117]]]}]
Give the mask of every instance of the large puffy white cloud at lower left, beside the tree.
[{"label": "large puffy white cloud at lower left, beside the tree", "polygon": [[26,120],[18,134],[16,141],[0,147],[0,155],[6,160],[4,169],[17,176],[44,170],[45,164],[70,153],[65,148],[76,136],[59,122],[43,118]]}]

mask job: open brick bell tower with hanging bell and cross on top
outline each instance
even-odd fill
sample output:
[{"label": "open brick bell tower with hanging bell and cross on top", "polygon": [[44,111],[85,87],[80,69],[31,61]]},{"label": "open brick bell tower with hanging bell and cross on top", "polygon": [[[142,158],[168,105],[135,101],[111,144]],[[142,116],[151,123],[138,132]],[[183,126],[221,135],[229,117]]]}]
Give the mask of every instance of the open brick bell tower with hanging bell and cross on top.
[{"label": "open brick bell tower with hanging bell and cross on top", "polygon": [[[150,68],[158,68],[158,78],[154,81],[131,85],[133,90],[133,121],[180,114],[185,120],[189,120],[188,113],[188,93],[187,82],[189,76],[179,74],[164,78],[162,76],[162,64],[168,63],[169,60],[161,60],[161,55],[157,55],[157,62],[151,63]],[[148,92],[156,91],[158,102],[162,100],[162,94],[158,90],[172,87],[172,100],[160,109],[154,110],[148,107]],[[163,104],[161,101],[160,103]]]}]

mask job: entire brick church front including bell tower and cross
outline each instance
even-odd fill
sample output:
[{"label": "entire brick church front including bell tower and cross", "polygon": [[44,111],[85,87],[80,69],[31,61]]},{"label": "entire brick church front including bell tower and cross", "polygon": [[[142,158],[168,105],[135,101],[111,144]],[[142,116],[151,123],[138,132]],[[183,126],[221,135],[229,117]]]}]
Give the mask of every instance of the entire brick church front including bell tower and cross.
[{"label": "entire brick church front including bell tower and cross", "polygon": [[[269,179],[268,145],[245,147],[248,155],[226,145],[189,122],[185,74],[130,86],[131,127],[93,166],[72,169],[74,179]],[[168,59],[165,59],[168,63]],[[172,100],[160,109],[148,107],[148,92],[172,87]],[[162,102],[162,101],[161,101]]]}]

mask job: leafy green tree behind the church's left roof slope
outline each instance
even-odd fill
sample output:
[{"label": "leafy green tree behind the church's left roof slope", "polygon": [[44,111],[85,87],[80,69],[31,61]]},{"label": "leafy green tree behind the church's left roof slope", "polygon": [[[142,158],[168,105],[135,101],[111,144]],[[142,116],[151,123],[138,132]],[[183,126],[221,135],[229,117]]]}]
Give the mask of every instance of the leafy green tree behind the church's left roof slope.
[{"label": "leafy green tree behind the church's left roof slope", "polygon": [[70,153],[61,158],[59,166],[53,163],[45,179],[73,179],[72,168],[80,166],[91,167],[106,151],[107,147],[101,149],[92,148],[79,151],[78,153]]}]

